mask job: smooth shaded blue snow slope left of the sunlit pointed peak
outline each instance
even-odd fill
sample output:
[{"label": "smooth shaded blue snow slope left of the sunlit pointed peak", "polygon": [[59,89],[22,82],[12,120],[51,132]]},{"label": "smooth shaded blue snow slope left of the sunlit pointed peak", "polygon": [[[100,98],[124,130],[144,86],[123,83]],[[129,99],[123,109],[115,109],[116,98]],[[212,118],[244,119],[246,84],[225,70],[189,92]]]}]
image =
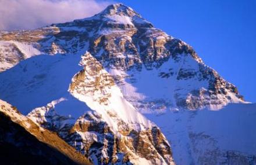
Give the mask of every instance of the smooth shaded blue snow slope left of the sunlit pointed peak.
[{"label": "smooth shaded blue snow slope left of the sunlit pointed peak", "polygon": [[70,80],[80,69],[77,65],[79,60],[77,56],[44,54],[21,61],[1,73],[0,97],[12,102],[23,114],[53,100],[68,97]]}]

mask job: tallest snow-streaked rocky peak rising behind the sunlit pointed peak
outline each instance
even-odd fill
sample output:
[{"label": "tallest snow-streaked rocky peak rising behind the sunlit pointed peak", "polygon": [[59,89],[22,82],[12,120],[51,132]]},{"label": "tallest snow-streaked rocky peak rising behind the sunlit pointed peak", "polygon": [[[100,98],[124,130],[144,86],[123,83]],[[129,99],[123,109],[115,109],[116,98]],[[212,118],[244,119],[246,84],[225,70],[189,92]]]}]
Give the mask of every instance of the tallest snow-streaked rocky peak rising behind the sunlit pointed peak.
[{"label": "tallest snow-streaked rocky peak rising behind the sunlit pointed peak", "polygon": [[[2,34],[1,40],[1,54],[12,53],[11,59],[2,60],[2,70],[38,54],[81,56],[88,51],[141,111],[153,105],[151,111],[219,109],[229,102],[243,102],[237,88],[205,65],[191,46],[122,4],[108,6],[89,19]],[[155,85],[161,89],[153,90]]]}]

